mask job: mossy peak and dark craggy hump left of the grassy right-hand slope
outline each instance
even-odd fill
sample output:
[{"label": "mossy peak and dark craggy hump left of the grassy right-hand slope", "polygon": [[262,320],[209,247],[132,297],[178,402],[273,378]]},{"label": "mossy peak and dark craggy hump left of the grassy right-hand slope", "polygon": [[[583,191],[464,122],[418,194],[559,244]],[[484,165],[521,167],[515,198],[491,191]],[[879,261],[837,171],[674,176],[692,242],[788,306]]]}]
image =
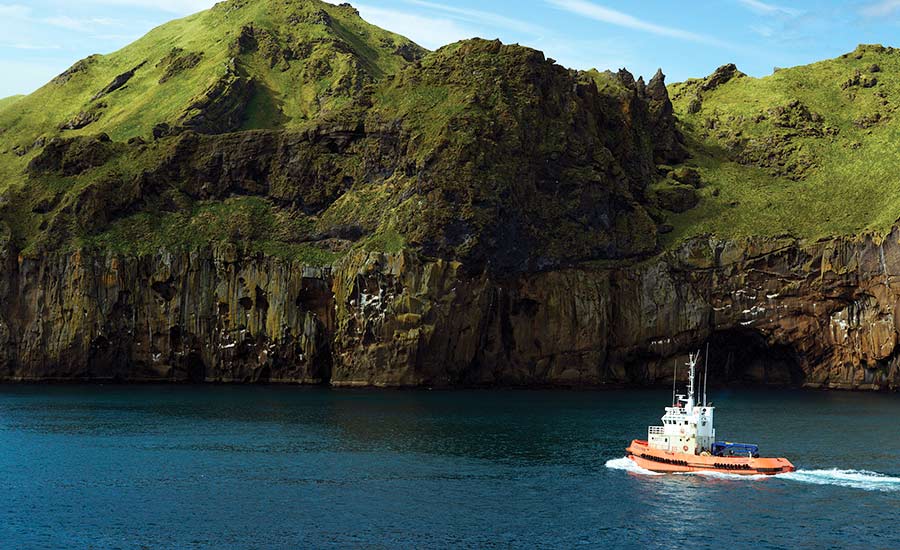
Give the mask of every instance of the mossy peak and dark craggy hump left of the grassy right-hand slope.
[{"label": "mossy peak and dark craggy hump left of the grassy right-hand slope", "polygon": [[661,74],[578,73],[478,39],[427,53],[318,0],[175,21],[79,62],[0,127],[0,215],[25,255],[231,242],[327,265],[413,248],[503,272],[640,258],[658,248],[655,163],[684,157]]}]

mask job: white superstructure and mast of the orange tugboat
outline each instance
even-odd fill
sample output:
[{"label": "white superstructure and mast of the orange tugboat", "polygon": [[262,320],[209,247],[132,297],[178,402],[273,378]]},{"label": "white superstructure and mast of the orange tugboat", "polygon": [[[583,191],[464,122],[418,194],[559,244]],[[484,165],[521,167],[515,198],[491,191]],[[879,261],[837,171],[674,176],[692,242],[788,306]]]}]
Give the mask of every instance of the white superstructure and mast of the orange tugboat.
[{"label": "white superstructure and mast of the orange tugboat", "polygon": [[694,399],[695,369],[698,354],[691,354],[687,366],[690,368],[688,395],[674,395],[674,403],[666,407],[662,426],[650,426],[647,441],[651,448],[673,453],[700,454],[710,452],[716,440],[713,427],[713,409],[706,402],[706,378],[704,377],[703,402]]}]

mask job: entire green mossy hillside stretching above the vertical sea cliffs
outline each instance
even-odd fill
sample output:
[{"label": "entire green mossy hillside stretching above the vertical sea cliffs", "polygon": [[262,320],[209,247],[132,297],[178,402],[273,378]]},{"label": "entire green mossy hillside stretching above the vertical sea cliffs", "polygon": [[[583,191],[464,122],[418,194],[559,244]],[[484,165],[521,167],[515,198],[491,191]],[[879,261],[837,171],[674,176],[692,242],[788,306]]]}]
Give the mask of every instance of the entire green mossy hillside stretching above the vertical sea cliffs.
[{"label": "entire green mossy hillside stretching above the vertical sea cliffs", "polygon": [[0,100],[0,234],[25,255],[408,247],[510,272],[885,231],[898,75],[900,52],[861,46],[667,89],[499,41],[426,52],[346,4],[228,0]]}]

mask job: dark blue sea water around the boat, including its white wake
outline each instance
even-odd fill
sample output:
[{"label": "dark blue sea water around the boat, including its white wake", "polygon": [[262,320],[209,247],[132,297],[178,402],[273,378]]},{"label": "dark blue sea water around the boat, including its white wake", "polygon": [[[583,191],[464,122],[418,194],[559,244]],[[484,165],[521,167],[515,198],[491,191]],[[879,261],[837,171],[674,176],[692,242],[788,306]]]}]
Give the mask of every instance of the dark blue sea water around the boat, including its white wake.
[{"label": "dark blue sea water around the boat, including its white wake", "polygon": [[640,471],[664,390],[0,386],[0,547],[900,548],[900,396],[712,398],[799,471]]}]

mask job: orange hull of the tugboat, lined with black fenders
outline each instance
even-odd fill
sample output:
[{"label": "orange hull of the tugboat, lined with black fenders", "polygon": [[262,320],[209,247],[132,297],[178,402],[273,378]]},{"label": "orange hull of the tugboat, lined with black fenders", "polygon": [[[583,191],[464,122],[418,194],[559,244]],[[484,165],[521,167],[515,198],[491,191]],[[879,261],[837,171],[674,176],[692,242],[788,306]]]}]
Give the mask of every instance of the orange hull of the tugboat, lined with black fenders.
[{"label": "orange hull of the tugboat, lined with black fenders", "polygon": [[700,456],[651,449],[646,441],[635,439],[628,446],[628,458],[653,472],[721,472],[741,475],[775,475],[793,472],[786,458],[750,458],[739,456]]}]

